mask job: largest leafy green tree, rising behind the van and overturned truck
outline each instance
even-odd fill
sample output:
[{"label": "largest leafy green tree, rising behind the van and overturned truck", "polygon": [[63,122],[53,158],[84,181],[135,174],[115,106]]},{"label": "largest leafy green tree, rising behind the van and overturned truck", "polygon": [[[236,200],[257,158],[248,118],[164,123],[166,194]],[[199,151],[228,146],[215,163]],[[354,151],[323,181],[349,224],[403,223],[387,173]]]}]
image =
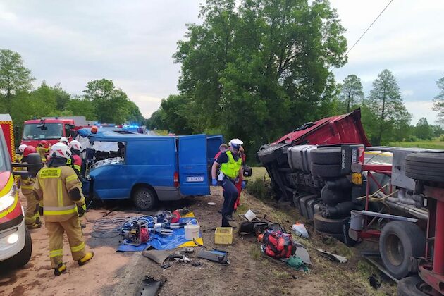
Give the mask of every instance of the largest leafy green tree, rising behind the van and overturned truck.
[{"label": "largest leafy green tree, rising behind the van and overturned truck", "polygon": [[256,151],[331,112],[330,68],[345,63],[347,42],[328,1],[208,0],[199,17],[174,55],[194,132],[222,130]]}]

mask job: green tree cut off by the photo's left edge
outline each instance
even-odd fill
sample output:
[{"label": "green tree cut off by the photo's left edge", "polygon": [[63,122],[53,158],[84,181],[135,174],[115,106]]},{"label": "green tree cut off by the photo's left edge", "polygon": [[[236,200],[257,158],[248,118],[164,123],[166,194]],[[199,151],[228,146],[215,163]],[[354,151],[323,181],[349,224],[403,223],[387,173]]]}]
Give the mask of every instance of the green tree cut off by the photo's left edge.
[{"label": "green tree cut off by the photo's left edge", "polygon": [[0,96],[4,98],[7,113],[11,113],[13,96],[30,90],[34,79],[31,71],[23,66],[20,54],[0,49]]}]

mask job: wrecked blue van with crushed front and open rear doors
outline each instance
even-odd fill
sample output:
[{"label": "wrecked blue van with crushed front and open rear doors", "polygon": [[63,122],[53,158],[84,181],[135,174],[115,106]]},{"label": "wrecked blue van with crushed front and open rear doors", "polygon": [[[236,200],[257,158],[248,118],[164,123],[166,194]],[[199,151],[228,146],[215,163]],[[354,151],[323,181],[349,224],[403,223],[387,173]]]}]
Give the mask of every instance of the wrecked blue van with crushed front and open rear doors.
[{"label": "wrecked blue van with crushed front and open rear doors", "polygon": [[141,210],[152,209],[158,201],[209,195],[209,167],[223,143],[221,135],[152,136],[118,129],[79,134],[90,146],[84,194],[132,199]]}]

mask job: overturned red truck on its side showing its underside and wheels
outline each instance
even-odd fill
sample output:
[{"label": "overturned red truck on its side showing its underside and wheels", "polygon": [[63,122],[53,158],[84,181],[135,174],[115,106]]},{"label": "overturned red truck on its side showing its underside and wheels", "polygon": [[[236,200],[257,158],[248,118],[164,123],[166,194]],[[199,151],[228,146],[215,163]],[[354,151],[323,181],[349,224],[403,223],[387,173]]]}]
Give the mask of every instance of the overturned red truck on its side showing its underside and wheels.
[{"label": "overturned red truck on its side showing its underside and wheels", "polygon": [[[400,279],[433,257],[426,244],[435,232],[428,219],[433,203],[407,176],[418,165],[407,156],[424,150],[371,147],[357,109],[305,123],[257,155],[280,202],[291,202],[316,232],[347,245],[378,239],[384,271]],[[444,175],[444,166],[431,168],[427,174]]]}]

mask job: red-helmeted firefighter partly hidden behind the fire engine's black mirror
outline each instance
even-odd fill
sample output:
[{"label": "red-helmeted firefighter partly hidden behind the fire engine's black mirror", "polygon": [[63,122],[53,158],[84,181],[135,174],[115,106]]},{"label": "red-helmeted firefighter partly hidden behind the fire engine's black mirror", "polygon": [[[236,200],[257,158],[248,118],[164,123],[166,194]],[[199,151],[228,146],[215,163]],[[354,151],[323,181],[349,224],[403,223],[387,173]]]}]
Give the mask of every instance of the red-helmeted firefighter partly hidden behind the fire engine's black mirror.
[{"label": "red-helmeted firefighter partly hidden behind the fire engine's black mirror", "polygon": [[[37,149],[34,146],[27,146],[23,151],[23,158],[20,162],[26,164],[27,156],[31,153],[37,153]],[[34,193],[32,193],[34,183],[35,178],[28,175],[20,175],[20,189],[26,197],[25,225],[30,229],[42,227],[39,215],[39,202],[35,199]]]}]

